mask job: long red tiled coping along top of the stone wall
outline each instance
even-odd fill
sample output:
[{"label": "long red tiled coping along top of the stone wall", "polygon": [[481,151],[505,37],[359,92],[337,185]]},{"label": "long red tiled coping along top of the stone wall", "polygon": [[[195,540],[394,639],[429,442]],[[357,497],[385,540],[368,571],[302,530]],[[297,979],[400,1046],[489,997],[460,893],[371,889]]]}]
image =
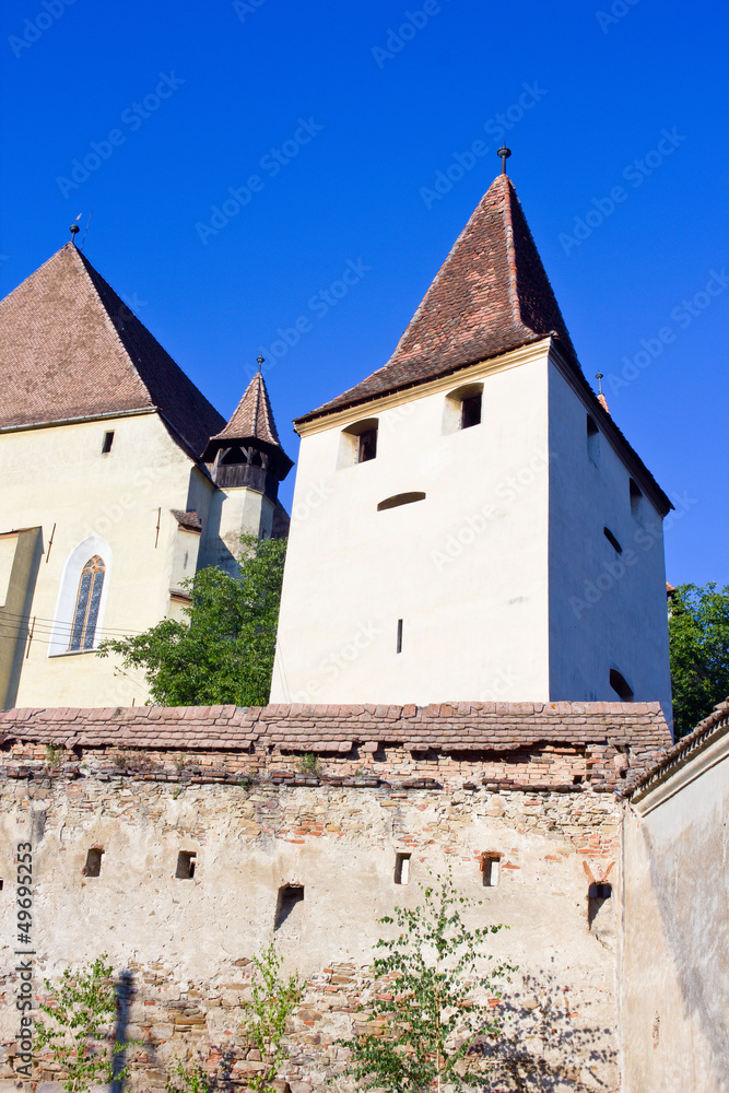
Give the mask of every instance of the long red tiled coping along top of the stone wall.
[{"label": "long red tiled coping along top of the stone wall", "polygon": [[585,747],[592,780],[619,780],[611,750],[630,748],[631,771],[655,763],[671,744],[660,706],[622,702],[457,702],[431,706],[269,705],[129,706],[108,709],[10,709],[0,743],[11,740],[85,748],[198,752],[251,744],[326,754],[387,743],[413,753],[509,753],[543,744]]}]

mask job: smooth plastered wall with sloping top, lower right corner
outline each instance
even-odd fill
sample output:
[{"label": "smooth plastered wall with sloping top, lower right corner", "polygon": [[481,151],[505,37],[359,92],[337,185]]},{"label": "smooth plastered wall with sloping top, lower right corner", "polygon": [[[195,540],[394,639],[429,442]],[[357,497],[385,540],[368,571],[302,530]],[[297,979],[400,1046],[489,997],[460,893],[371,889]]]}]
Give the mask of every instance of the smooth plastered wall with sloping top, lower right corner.
[{"label": "smooth plastered wall with sloping top, lower right corner", "polygon": [[697,744],[634,795],[623,825],[626,1093],[729,1090],[726,710]]}]

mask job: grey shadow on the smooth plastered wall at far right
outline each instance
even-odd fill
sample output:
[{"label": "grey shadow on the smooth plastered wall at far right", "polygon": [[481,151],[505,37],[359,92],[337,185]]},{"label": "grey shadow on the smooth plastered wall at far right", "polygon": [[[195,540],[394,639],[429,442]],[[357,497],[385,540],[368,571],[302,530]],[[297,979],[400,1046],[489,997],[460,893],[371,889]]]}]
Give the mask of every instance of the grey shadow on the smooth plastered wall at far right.
[{"label": "grey shadow on the smooth plastered wall at far right", "polygon": [[[717,806],[701,828],[657,849],[643,826],[650,880],[683,998],[684,1018],[705,1037],[716,1088],[729,1091],[729,890],[722,874],[726,827]],[[703,837],[702,837],[703,836]],[[685,842],[682,846],[681,843]],[[677,1050],[678,1050],[677,1046]],[[708,1069],[708,1068],[707,1068]]]}]

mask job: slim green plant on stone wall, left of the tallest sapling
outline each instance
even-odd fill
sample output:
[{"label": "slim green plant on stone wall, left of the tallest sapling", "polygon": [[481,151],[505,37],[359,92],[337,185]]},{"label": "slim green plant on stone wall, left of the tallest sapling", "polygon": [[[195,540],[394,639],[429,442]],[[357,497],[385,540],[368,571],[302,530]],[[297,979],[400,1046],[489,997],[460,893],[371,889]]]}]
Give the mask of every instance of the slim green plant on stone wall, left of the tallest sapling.
[{"label": "slim green plant on stone wall, left of the tallest sapling", "polygon": [[283,957],[273,940],[251,963],[251,999],[243,1003],[240,1029],[248,1047],[260,1054],[261,1069],[247,1074],[246,1081],[255,1093],[275,1093],[273,1082],[289,1057],[283,1043],[286,1021],[301,1001],[301,982],[297,974],[287,979],[281,975]]}]

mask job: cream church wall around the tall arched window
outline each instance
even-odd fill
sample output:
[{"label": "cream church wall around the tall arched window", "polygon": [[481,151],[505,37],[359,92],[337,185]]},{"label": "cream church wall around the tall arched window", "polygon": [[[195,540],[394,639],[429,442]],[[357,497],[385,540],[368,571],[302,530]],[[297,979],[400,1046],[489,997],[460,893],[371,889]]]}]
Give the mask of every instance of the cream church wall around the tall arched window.
[{"label": "cream church wall around the tall arched window", "polygon": [[[114,443],[103,455],[109,431]],[[141,678],[115,673],[114,658],[101,660],[93,653],[49,657],[49,647],[58,648],[60,640],[59,627],[52,635],[54,620],[61,600],[70,595],[74,601],[75,591],[63,591],[62,577],[86,539],[108,544],[111,565],[97,636],[139,633],[165,616],[177,537],[171,509],[188,507],[191,460],[156,414],[17,431],[3,434],[0,444],[3,530],[43,529],[44,556],[30,608],[35,627],[16,704],[144,702]],[[73,608],[64,610],[68,635]]]}]

